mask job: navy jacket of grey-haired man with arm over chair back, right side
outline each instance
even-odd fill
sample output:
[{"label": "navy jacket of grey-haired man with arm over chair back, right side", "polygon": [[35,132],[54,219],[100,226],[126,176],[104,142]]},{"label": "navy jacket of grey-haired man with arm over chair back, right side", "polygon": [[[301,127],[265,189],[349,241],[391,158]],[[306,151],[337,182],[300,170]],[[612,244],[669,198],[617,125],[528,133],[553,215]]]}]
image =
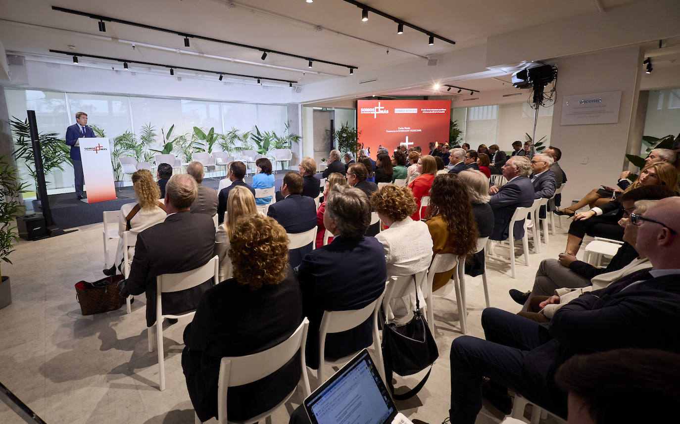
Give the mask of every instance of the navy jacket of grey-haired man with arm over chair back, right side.
[{"label": "navy jacket of grey-haired man with arm over chair back, right side", "polygon": [[[534,186],[528,177],[517,177],[506,183],[491,196],[489,205],[494,210],[494,231],[489,237],[492,240],[508,238],[510,219],[518,207],[530,207],[534,204]],[[524,236],[524,219],[515,222],[515,240]]]}]

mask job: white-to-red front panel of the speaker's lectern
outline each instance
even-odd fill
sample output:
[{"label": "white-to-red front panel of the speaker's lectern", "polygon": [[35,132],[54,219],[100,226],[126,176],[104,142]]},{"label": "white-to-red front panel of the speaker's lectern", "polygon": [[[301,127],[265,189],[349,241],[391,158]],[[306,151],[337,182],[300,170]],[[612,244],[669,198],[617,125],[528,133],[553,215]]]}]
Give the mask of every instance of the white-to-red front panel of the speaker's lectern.
[{"label": "white-to-red front panel of the speaker's lectern", "polygon": [[78,139],[78,143],[87,186],[87,202],[116,200],[109,139],[88,137]]}]

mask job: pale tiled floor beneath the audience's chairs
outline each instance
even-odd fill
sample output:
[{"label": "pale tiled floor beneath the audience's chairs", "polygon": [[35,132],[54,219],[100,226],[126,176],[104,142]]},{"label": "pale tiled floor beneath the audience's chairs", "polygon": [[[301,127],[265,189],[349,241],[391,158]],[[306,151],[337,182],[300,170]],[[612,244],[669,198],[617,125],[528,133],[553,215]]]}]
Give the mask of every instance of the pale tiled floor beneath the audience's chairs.
[{"label": "pale tiled floor beneath the audience's chairs", "polygon": [[[566,220],[564,220],[566,224]],[[164,330],[167,389],[158,390],[156,353],[148,353],[144,299],[137,296],[133,312],[118,311],[82,316],[73,285],[102,277],[102,224],[41,241],[20,241],[2,264],[12,278],[14,302],[0,310],[0,382],[14,391],[48,424],[193,423],[194,412],[186,391],[180,353],[182,332],[190,319]],[[566,243],[565,230],[550,236],[543,252],[530,254],[524,266],[517,244],[517,279],[509,277],[507,260],[487,261],[492,306],[518,311],[508,289],[530,289],[544,258],[556,258]],[[116,241],[109,241],[109,252]],[[496,249],[507,258],[507,248]],[[580,255],[579,255],[580,256]],[[481,277],[466,279],[469,334],[483,336],[480,324],[484,305]],[[441,423],[449,409],[449,349],[460,336],[454,292],[435,299],[439,360],[417,397],[398,402],[411,419]],[[416,378],[398,378],[396,387]],[[310,378],[312,386],[316,379]],[[273,423],[287,423],[292,408],[302,400],[300,389],[273,415]],[[500,412],[483,408],[477,423],[498,423]],[[0,423],[23,421],[0,404]]]}]

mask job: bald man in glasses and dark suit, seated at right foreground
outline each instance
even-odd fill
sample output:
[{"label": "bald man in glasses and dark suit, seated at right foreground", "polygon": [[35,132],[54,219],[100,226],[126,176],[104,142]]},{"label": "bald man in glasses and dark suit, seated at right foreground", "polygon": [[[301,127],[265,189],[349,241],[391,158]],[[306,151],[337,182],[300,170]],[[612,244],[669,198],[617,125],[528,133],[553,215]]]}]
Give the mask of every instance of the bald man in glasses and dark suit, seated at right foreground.
[{"label": "bald man in glasses and dark suit, seated at right foreground", "polygon": [[[473,424],[481,409],[482,377],[566,418],[566,393],[556,369],[576,353],[637,347],[680,353],[680,198],[659,200],[644,215],[636,246],[653,270],[634,272],[562,306],[549,324],[486,308],[486,340],[461,336],[451,347],[451,409],[456,424]],[[559,300],[557,300],[559,301]],[[630,376],[634,378],[634,376]],[[509,401],[509,397],[507,397]]]}]

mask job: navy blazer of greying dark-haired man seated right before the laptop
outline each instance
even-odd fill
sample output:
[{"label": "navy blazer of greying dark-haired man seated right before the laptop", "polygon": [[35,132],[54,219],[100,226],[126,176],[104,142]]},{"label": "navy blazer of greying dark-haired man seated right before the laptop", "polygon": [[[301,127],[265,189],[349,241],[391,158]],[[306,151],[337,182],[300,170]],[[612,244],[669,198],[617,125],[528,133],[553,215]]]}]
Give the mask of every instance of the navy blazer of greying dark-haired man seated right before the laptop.
[{"label": "navy blazer of greying dark-haired man seated right before the laptop", "polygon": [[[345,264],[338,268],[339,264]],[[348,311],[373,302],[385,289],[387,266],[383,246],[375,237],[337,236],[305,256],[298,269],[303,312],[309,319],[307,366],[319,366],[319,326],[324,311]],[[337,359],[369,347],[372,319],[357,328],[326,336],[326,357]]]}]

